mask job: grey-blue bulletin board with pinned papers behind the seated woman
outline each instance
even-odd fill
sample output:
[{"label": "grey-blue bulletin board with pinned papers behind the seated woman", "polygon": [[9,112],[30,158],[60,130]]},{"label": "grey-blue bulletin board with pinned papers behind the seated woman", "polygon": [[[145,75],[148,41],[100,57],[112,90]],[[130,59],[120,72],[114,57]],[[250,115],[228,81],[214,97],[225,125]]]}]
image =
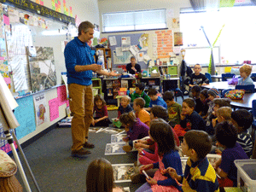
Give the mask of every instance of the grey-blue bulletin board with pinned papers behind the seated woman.
[{"label": "grey-blue bulletin board with pinned papers behind the seated woman", "polygon": [[[112,51],[112,63],[113,63],[113,68],[117,68],[119,65],[126,65],[128,63],[130,63],[130,58],[131,56],[133,56],[131,54],[131,52],[128,51],[124,51],[123,52],[123,56],[119,56],[117,58],[116,53],[115,53],[115,49],[117,47],[121,47],[121,38],[123,37],[130,37],[131,38],[131,45],[137,45],[139,44],[139,38],[141,38],[141,36],[143,35],[143,33],[136,33],[136,34],[123,34],[123,35],[110,35],[109,37],[115,37],[116,39],[116,45],[110,46],[110,49]],[[143,53],[143,55],[147,54],[148,50],[147,49],[142,49],[140,50],[140,53]],[[137,57],[137,55],[136,55]],[[148,65],[144,62],[144,61],[138,61],[137,62],[142,69],[147,69]]]}]

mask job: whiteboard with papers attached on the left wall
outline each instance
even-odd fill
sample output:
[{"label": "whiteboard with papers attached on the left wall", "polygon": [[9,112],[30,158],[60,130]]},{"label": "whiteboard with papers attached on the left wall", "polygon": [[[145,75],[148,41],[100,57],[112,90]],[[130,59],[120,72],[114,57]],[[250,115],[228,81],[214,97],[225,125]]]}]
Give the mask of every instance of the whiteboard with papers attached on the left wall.
[{"label": "whiteboard with papers attached on the left wall", "polygon": [[[17,96],[22,96],[25,95],[26,93],[29,92],[35,92],[33,87],[32,87],[32,74],[31,74],[31,61],[32,57],[29,57],[27,55],[26,51],[26,46],[33,46],[33,47],[38,47],[38,48],[43,48],[43,49],[51,49],[52,52],[52,59],[49,62],[51,65],[52,73],[55,73],[55,75],[52,75],[52,78],[50,79],[51,82],[54,82],[53,84],[49,84],[49,86],[44,87],[42,90],[47,90],[50,87],[54,87],[57,84],[61,84],[61,72],[66,71],[65,67],[65,60],[64,60],[64,41],[67,41],[67,36],[65,30],[67,30],[67,24],[62,23],[60,21],[52,20],[49,18],[44,18],[42,16],[38,15],[32,15],[32,13],[26,12],[21,9],[14,9],[18,13],[14,12],[9,12],[9,18],[11,18],[11,15],[18,15],[16,20],[14,20],[14,16],[12,17],[11,20],[9,20],[9,28],[12,29],[12,31],[9,31],[9,33],[6,33],[6,41],[7,41],[7,48],[8,49],[14,49],[14,55],[15,57],[12,57],[13,52],[9,54],[9,60],[8,60],[8,67],[9,67],[9,72],[11,72],[10,75],[10,90],[13,93],[15,97]],[[30,21],[22,20],[22,23],[20,23],[20,13],[21,15],[31,15],[31,17],[36,17],[38,26],[32,25]],[[4,15],[4,12],[3,12]],[[42,22],[39,22],[38,20],[41,20]],[[20,22],[19,22],[20,21]],[[46,22],[47,21],[47,22]],[[5,26],[5,32],[6,32],[6,23],[4,23]],[[39,26],[42,24],[43,26]],[[46,25],[45,25],[46,24]],[[44,26],[45,25],[45,26]],[[14,31],[16,29],[16,31]],[[20,30],[20,31],[19,31]],[[22,50],[20,50],[19,46],[17,47],[12,47],[12,42],[10,42],[11,38],[8,38],[10,35],[16,35],[19,34],[19,32],[24,32],[26,31],[27,33],[30,33],[28,36],[31,39],[27,44],[25,44],[22,47]],[[27,38],[28,36],[24,36]],[[17,39],[22,39],[24,37],[18,37]],[[20,40],[20,43],[22,43],[23,39]],[[9,45],[10,44],[10,45]],[[17,45],[19,42],[17,43]],[[42,52],[42,51],[41,51]],[[40,52],[40,53],[41,53]],[[45,51],[44,51],[45,52]],[[39,57],[41,55],[39,54]],[[10,57],[15,58],[15,59],[10,59]],[[45,62],[46,65],[48,64]],[[22,66],[22,67],[20,67]],[[41,67],[41,70],[43,68]],[[16,76],[15,76],[16,75]],[[38,75],[36,75],[38,77]],[[19,78],[16,78],[19,77]],[[36,77],[36,78],[37,78]],[[18,79],[18,80],[17,80]],[[17,85],[18,84],[18,85]]]}]

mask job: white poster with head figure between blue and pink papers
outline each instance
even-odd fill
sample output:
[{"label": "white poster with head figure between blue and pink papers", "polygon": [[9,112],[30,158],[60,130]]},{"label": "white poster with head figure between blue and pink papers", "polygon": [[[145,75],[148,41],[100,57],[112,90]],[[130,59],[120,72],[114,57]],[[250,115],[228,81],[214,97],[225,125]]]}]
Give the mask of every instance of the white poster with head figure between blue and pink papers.
[{"label": "white poster with head figure between blue and pink papers", "polygon": [[40,93],[33,96],[35,112],[36,112],[36,125],[44,124],[47,121],[49,113],[46,113],[46,99],[45,94]]}]

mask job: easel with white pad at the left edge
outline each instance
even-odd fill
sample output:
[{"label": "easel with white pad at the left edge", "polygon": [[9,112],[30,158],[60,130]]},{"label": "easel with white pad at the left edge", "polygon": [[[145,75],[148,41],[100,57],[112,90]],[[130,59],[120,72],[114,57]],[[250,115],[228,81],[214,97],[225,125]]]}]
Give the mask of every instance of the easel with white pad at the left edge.
[{"label": "easel with white pad at the left edge", "polygon": [[[31,170],[31,168],[30,168],[30,166],[29,166],[29,164],[26,160],[26,156],[23,153],[22,148],[20,147],[20,143],[18,142],[17,137],[15,136],[15,131],[13,131],[13,133],[10,134],[10,130],[15,129],[16,127],[18,127],[19,123],[18,123],[17,119],[15,118],[15,114],[13,113],[13,111],[12,111],[10,105],[9,105],[9,101],[7,100],[5,95],[3,94],[4,93],[3,92],[3,86],[5,86],[6,84],[3,81],[2,75],[0,75],[0,76],[1,76],[0,77],[0,81],[1,81],[0,83],[2,83],[2,84],[0,84],[0,121],[3,125],[3,131],[4,131],[4,134],[6,136],[6,138],[1,138],[0,137],[0,139],[5,139],[5,140],[8,141],[10,147],[12,148],[12,152],[13,152],[14,157],[15,157],[15,162],[18,166],[19,171],[20,171],[20,176],[21,176],[21,178],[23,180],[23,183],[26,187],[26,191],[31,192],[32,190],[30,189],[29,183],[27,182],[26,174],[25,174],[25,172],[23,170],[23,167],[20,163],[19,155],[17,154],[17,151],[15,149],[15,144],[14,144],[13,137],[15,138],[15,142],[17,143],[17,146],[20,150],[20,153],[21,153],[21,155],[22,155],[22,157],[23,157],[23,159],[26,163],[26,166],[27,166],[27,168],[30,172],[30,175],[32,177],[32,180],[35,183],[36,188],[38,189],[38,191],[40,191],[40,189],[38,187],[38,183],[37,183],[35,177],[33,176],[32,170]],[[3,82],[4,82],[4,84],[3,84]],[[7,85],[6,85],[6,87],[7,87]],[[5,89],[5,91],[6,91],[6,89]]]}]

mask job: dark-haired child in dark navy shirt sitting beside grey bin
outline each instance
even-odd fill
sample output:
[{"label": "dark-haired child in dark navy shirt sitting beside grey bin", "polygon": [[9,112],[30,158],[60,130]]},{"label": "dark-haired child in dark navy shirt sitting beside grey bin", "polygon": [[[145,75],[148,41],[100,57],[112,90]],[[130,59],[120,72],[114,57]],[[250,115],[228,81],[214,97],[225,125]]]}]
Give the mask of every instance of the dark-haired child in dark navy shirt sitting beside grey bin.
[{"label": "dark-haired child in dark navy shirt sitting beside grey bin", "polygon": [[234,160],[248,159],[247,154],[241,148],[237,140],[237,131],[235,126],[224,121],[216,127],[215,137],[217,145],[224,148],[221,159],[212,166],[221,177],[218,179],[220,187],[236,187],[237,186],[237,168]]}]

